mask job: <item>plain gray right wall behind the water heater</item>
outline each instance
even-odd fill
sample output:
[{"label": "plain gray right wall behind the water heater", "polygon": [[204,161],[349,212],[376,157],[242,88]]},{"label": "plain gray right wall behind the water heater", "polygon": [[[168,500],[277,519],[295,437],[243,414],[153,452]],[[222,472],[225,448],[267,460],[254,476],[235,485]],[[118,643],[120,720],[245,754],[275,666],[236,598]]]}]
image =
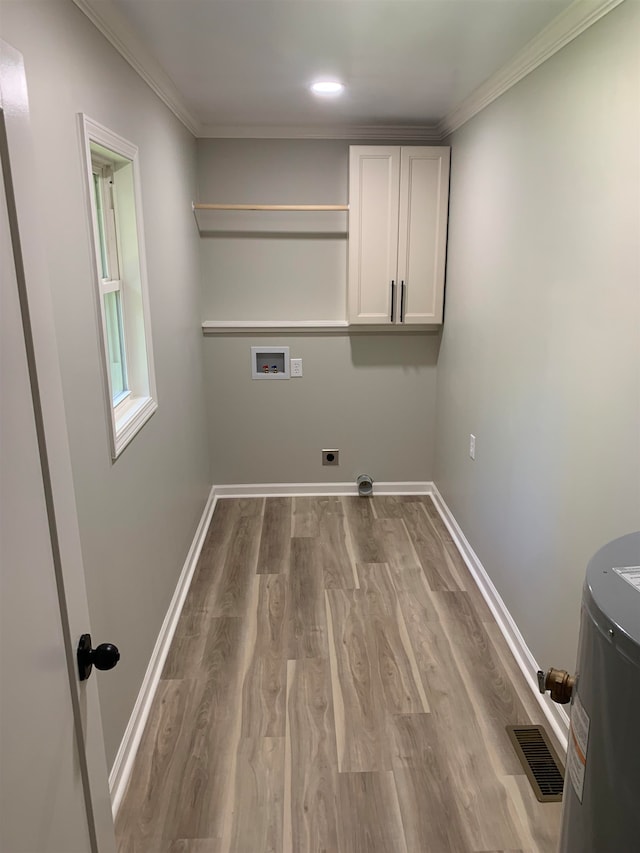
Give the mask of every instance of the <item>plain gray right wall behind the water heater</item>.
[{"label": "plain gray right wall behind the water heater", "polygon": [[435,479],[545,665],[640,525],[638,44],[625,3],[452,140]]}]

